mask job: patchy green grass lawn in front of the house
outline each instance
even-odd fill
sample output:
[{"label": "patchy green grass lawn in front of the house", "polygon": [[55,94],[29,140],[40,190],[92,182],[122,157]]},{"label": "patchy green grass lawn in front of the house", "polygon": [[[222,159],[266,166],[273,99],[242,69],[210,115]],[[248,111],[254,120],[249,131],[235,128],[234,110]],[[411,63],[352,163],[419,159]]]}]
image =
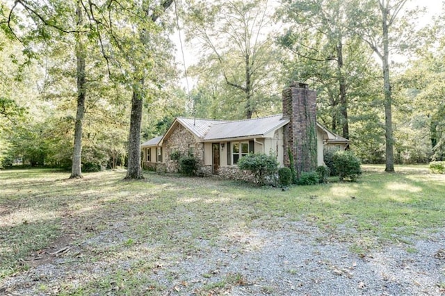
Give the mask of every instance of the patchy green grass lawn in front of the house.
[{"label": "patchy green grass lawn in front of the house", "polygon": [[[242,275],[206,281],[216,275],[201,272],[204,280],[194,286],[165,267],[210,248],[229,249],[243,233],[281,231],[294,222],[317,229],[320,242],[344,242],[358,256],[394,244],[416,252],[413,240],[444,227],[445,175],[426,166],[383,170],[367,165],[356,183],[285,191],[148,172],[145,181],[129,182],[123,171],[68,180],[55,170],[1,170],[0,294],[142,295],[193,287],[207,295],[243,283]],[[51,280],[46,270],[11,286],[10,279],[50,263],[63,266],[50,271]],[[162,272],[163,280],[154,280]]]}]

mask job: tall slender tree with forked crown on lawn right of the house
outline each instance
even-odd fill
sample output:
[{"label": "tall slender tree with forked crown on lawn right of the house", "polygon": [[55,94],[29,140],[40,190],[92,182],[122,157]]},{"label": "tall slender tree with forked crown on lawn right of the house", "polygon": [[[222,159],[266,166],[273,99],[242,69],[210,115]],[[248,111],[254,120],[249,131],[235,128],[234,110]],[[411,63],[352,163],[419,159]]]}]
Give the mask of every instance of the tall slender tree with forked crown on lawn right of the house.
[{"label": "tall slender tree with forked crown on lawn right of the house", "polygon": [[[383,93],[385,95],[385,172],[394,172],[394,135],[392,124],[392,89],[389,73],[391,35],[397,17],[407,0],[356,1],[350,10],[355,33],[364,40],[382,62]],[[406,30],[407,28],[405,28]]]}]

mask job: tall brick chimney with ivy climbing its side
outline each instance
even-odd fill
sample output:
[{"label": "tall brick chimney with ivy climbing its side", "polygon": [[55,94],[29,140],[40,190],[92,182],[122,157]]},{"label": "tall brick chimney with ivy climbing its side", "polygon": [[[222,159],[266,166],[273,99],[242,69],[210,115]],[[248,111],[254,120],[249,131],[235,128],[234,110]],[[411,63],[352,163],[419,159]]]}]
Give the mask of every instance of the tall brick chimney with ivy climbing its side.
[{"label": "tall brick chimney with ivy climbing its side", "polygon": [[316,92],[305,83],[293,83],[283,90],[284,165],[290,167],[289,151],[297,177],[317,166]]}]

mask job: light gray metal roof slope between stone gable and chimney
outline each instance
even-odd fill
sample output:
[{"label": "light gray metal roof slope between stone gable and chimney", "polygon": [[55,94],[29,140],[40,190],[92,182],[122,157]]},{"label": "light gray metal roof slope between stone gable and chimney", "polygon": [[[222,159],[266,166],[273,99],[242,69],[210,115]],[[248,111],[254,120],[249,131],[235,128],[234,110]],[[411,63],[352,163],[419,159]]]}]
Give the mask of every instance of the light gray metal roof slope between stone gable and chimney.
[{"label": "light gray metal roof slope between stone gable and chimney", "polygon": [[287,124],[289,119],[281,114],[268,117],[259,117],[250,120],[237,120],[213,124],[203,140],[218,140],[229,138],[241,138],[248,136],[264,136],[270,131]]}]

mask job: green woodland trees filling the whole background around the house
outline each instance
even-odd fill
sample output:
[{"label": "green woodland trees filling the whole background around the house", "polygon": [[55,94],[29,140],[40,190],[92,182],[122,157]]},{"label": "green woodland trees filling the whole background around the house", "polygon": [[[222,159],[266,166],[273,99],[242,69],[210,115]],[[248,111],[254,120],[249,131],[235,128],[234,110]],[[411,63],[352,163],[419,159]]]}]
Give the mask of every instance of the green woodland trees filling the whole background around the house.
[{"label": "green woodland trees filling the whole background around the house", "polygon": [[[365,163],[442,160],[444,21],[419,26],[409,2],[0,1],[0,158],[140,179],[140,142],[175,116],[277,114],[298,81]],[[185,73],[178,30],[195,49]]]}]

